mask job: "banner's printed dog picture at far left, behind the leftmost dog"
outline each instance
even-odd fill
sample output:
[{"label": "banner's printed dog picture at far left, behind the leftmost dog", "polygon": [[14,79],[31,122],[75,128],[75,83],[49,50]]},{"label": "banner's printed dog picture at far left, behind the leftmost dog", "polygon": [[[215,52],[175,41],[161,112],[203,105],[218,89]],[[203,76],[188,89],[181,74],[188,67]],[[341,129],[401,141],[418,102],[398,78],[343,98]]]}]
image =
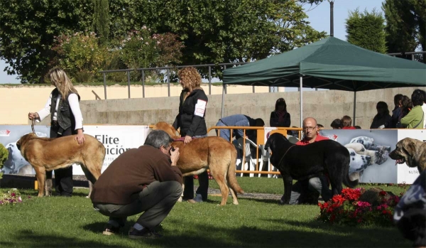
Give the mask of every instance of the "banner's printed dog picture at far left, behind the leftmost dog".
[{"label": "banner's printed dog picture at far left, behind the leftmost dog", "polygon": [[[49,131],[49,126],[35,126],[35,134],[39,137],[47,137]],[[16,141],[30,132],[30,125],[0,125],[0,143],[9,152],[9,156],[1,168],[1,172],[5,175],[35,174],[31,164],[23,158],[21,151],[16,147]]]}]

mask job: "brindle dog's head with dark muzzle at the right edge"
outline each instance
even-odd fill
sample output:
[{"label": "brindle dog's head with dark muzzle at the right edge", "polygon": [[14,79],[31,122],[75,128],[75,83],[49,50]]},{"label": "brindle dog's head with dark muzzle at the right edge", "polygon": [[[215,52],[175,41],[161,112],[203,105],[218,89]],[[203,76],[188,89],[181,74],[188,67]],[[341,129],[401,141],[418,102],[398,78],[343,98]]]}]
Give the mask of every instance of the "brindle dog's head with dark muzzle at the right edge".
[{"label": "brindle dog's head with dark muzzle at the right edge", "polygon": [[422,173],[426,167],[426,143],[411,138],[401,139],[389,156],[396,160],[396,163],[406,163],[408,167],[417,167],[419,173]]}]

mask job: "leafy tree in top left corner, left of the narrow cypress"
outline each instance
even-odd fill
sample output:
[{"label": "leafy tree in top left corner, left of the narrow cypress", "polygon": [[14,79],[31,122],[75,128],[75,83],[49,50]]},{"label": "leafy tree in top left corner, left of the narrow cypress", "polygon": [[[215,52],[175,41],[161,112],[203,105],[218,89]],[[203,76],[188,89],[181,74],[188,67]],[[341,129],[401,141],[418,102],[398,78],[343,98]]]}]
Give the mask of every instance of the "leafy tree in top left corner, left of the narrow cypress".
[{"label": "leafy tree in top left corner, left of the narrow cypress", "polygon": [[43,82],[55,57],[52,45],[61,33],[89,30],[90,0],[0,0],[0,58],[21,82]]}]

